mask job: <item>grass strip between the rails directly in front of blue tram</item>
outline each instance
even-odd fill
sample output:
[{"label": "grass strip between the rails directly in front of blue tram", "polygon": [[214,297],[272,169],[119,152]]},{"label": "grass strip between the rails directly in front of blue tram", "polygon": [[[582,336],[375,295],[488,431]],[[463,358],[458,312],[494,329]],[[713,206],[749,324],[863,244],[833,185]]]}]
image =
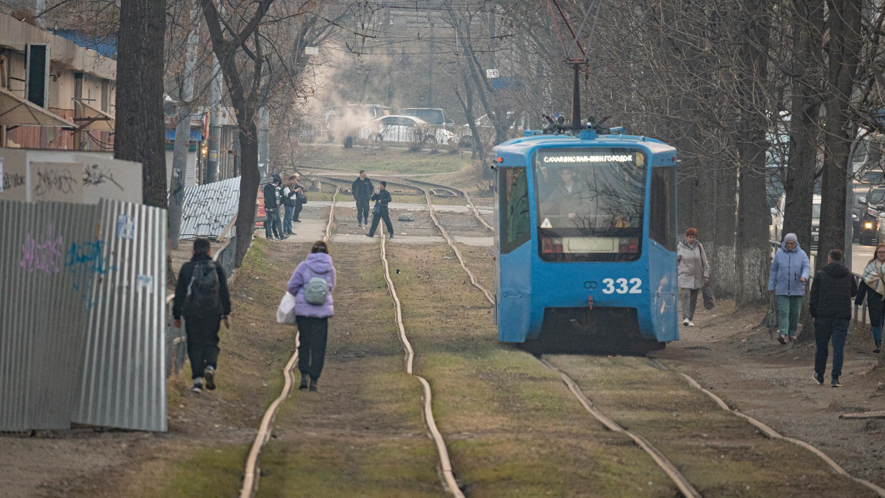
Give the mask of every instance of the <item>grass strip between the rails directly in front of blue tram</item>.
[{"label": "grass strip between the rails directly in front of blue tram", "polygon": [[705,498],[876,496],[817,456],[772,441],[690,387],[677,372],[630,356],[544,356],[620,425],[643,434]]}]

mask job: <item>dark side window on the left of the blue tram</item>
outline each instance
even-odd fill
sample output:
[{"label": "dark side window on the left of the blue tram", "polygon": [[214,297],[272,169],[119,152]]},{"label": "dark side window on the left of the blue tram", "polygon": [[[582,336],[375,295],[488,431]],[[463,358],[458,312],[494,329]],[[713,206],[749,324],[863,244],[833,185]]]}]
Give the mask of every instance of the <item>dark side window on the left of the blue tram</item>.
[{"label": "dark side window on the left of the blue tram", "polygon": [[501,254],[507,254],[532,238],[526,168],[498,168],[498,184]]}]

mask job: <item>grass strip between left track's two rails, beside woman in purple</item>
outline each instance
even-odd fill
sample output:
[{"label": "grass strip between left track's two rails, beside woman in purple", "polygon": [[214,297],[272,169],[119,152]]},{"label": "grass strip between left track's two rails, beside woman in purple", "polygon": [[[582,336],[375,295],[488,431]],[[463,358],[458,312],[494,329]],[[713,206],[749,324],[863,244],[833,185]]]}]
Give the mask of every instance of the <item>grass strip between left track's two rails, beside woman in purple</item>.
[{"label": "grass strip between left track's two rails, beside woman in purple", "polygon": [[404,372],[380,249],[331,250],[338,287],[319,392],[296,391],[282,406],[258,496],[449,496],[421,418],[419,381]]}]

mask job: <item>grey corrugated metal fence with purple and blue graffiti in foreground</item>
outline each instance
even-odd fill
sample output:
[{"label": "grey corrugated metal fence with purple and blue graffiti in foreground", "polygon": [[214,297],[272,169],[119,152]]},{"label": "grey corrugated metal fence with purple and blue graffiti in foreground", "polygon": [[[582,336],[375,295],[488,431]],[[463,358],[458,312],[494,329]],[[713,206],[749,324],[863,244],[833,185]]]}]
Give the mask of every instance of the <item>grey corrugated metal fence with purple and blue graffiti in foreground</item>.
[{"label": "grey corrugated metal fence with purple and blue graffiti in foreground", "polygon": [[0,201],[0,431],[166,430],[165,210]]}]

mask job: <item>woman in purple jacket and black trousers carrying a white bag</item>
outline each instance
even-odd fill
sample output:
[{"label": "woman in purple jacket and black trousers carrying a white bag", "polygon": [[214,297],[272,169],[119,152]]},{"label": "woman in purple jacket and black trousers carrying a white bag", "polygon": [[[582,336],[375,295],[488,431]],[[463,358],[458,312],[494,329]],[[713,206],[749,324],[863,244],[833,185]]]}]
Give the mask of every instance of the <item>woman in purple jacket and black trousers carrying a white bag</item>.
[{"label": "woman in purple jacket and black trousers carrying a white bag", "polygon": [[[304,300],[304,287],[312,278],[326,280],[328,294],[326,303],[311,304]],[[323,371],[323,360],[326,357],[326,338],[329,317],[335,314],[332,302],[332,291],[335,289],[335,266],[324,241],[316,241],[307,259],[298,264],[287,287],[289,294],[295,296],[295,320],[298,326],[298,370],[301,371],[301,386],[317,390],[317,379]]]}]

